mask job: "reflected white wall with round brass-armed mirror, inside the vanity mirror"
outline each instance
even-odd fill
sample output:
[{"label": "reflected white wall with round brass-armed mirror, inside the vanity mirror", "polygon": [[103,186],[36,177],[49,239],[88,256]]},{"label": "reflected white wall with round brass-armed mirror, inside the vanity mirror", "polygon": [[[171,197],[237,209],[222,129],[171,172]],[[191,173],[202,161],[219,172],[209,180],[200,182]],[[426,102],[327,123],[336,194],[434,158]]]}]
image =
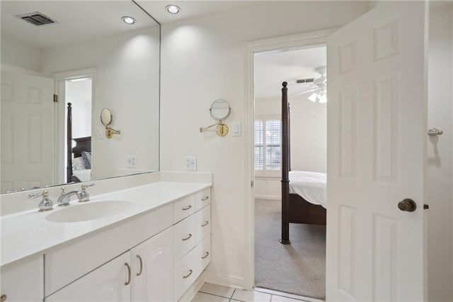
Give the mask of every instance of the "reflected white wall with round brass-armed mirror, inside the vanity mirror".
[{"label": "reflected white wall with round brass-armed mirror, inside the vanity mirror", "polygon": [[[127,167],[127,155],[137,157],[137,169],[159,170],[159,27],[43,53],[43,73],[95,68],[93,79],[93,173],[113,177]],[[110,108],[121,135],[97,138],[103,132],[101,110]],[[94,145],[94,144],[93,144]]]}]

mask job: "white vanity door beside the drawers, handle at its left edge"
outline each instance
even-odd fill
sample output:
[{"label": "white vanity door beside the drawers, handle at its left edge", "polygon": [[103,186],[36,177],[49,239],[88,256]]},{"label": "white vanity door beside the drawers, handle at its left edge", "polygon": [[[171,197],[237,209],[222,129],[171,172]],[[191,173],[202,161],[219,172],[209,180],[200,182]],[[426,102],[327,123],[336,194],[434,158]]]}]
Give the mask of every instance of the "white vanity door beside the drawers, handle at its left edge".
[{"label": "white vanity door beside the drawers, handle at its left edge", "polygon": [[173,227],[131,250],[132,301],[174,301]]}]

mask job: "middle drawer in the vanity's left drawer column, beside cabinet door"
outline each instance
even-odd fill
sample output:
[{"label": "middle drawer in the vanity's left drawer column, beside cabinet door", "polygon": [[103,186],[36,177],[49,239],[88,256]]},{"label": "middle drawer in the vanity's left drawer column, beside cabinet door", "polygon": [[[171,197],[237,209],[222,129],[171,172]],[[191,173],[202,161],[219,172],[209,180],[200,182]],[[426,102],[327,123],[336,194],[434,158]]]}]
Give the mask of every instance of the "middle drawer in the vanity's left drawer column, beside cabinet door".
[{"label": "middle drawer in the vanity's left drawer column, beside cabinet door", "polygon": [[174,226],[175,262],[195,247],[195,216],[189,216]]}]

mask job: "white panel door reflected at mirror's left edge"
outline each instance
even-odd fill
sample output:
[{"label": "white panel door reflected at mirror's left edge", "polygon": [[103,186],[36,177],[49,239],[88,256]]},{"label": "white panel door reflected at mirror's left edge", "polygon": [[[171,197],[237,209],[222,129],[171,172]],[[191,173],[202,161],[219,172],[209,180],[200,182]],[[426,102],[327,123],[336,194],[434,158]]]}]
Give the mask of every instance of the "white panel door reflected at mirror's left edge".
[{"label": "white panel door reflected at mirror's left edge", "polygon": [[54,183],[53,79],[1,72],[1,193]]}]

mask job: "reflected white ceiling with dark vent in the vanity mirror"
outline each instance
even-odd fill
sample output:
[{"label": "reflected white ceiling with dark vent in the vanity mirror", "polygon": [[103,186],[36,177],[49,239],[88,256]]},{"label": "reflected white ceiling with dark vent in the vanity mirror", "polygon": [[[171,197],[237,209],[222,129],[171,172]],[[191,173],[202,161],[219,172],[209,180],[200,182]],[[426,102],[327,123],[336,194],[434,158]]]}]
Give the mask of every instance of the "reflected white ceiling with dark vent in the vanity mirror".
[{"label": "reflected white ceiling with dark vent in the vanity mirror", "polygon": [[[0,1],[1,34],[47,48],[95,40],[108,35],[155,26],[132,1]],[[17,15],[39,11],[57,23],[34,26]],[[133,16],[137,23],[122,22]]]}]

